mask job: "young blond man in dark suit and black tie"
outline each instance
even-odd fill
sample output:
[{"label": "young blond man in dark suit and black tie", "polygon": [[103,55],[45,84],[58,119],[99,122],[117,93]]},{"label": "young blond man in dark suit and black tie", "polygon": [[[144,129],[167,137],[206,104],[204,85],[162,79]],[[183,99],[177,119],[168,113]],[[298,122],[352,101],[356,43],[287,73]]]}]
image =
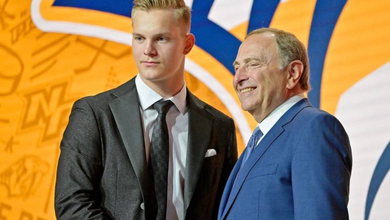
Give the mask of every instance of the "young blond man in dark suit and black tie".
[{"label": "young blond man in dark suit and black tie", "polygon": [[231,118],[186,88],[183,0],[135,0],[139,74],[77,101],[60,145],[58,219],[216,219],[237,161]]}]

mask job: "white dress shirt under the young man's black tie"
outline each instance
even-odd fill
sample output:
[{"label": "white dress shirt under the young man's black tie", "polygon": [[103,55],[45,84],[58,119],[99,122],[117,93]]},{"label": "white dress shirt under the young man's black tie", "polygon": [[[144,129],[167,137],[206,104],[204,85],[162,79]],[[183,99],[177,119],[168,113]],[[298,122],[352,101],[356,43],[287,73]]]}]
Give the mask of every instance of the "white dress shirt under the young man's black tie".
[{"label": "white dress shirt under the young man's black tie", "polygon": [[[141,116],[143,118],[146,161],[148,162],[151,135],[158,114],[153,109],[153,104],[163,98],[148,87],[140,75],[136,76],[136,87],[140,101]],[[168,99],[174,105],[166,114],[169,133],[167,220],[184,220],[183,195],[188,140],[186,97],[187,90],[186,83],[184,82],[184,86],[180,92]]]}]

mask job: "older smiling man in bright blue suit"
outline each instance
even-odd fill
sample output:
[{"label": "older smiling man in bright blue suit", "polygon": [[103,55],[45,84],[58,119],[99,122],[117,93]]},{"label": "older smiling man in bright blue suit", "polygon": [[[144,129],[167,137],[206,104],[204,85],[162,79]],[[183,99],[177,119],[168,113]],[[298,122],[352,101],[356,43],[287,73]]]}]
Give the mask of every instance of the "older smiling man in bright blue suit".
[{"label": "older smiling man in bright blue suit", "polygon": [[304,97],[303,44],[291,33],[261,28],[248,34],[233,64],[242,108],[258,125],[225,186],[219,219],[348,219],[348,136]]}]

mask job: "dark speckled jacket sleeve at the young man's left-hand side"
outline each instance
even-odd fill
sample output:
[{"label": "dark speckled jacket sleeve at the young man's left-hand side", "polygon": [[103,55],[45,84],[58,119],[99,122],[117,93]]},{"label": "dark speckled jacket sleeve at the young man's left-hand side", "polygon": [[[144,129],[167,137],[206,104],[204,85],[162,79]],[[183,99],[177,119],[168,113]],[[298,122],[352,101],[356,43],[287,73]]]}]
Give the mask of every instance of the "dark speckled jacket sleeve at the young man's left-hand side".
[{"label": "dark speckled jacket sleeve at the young man's left-hand side", "polygon": [[101,143],[98,123],[87,101],[73,105],[60,150],[54,193],[57,219],[111,219],[100,207]]}]

